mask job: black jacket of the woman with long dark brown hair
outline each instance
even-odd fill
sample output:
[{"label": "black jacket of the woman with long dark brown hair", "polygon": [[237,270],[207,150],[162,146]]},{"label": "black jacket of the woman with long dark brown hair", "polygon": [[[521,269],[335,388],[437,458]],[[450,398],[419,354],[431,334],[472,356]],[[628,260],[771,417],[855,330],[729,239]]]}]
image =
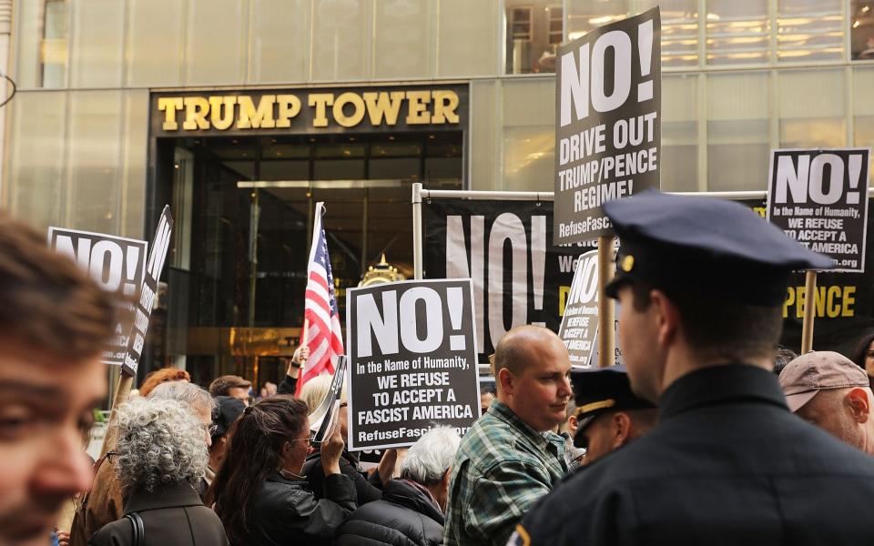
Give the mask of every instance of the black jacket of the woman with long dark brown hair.
[{"label": "black jacket of the woman with long dark brown hair", "polygon": [[324,486],[325,498],[317,500],[306,481],[270,474],[249,507],[249,539],[234,546],[330,544],[356,508],[355,486],[342,474],[328,476]]}]

